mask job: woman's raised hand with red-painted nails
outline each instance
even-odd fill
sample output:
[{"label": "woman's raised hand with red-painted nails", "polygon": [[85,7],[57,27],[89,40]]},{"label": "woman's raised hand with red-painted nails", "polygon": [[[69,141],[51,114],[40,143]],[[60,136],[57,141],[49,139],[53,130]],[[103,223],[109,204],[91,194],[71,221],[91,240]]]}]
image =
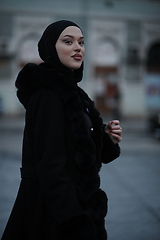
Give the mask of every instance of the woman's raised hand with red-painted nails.
[{"label": "woman's raised hand with red-painted nails", "polygon": [[122,128],[118,120],[113,120],[105,127],[105,132],[109,134],[114,144],[122,141]]}]

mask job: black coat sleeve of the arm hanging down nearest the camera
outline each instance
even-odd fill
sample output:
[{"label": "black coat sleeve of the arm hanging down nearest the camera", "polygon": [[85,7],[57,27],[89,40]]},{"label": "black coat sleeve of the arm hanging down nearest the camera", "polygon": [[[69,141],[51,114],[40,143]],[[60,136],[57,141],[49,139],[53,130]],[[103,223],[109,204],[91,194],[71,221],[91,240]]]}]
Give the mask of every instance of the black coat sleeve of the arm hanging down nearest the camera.
[{"label": "black coat sleeve of the arm hanging down nearest the camera", "polygon": [[[65,114],[62,100],[52,90],[39,90],[30,101],[34,158],[56,239],[93,239],[95,226],[83,212],[74,182],[67,171]],[[77,237],[78,233],[78,237]]]}]

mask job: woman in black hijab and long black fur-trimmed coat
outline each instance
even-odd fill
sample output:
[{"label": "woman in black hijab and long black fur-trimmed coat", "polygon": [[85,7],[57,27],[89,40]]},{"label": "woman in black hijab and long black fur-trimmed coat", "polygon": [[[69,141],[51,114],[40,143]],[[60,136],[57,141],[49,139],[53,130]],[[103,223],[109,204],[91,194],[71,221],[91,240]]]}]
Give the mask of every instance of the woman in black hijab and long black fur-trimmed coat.
[{"label": "woman in black hijab and long black fur-trimmed coat", "polygon": [[106,240],[99,171],[120,154],[119,121],[103,125],[77,86],[85,53],[78,25],[49,25],[38,50],[44,62],[27,64],[16,80],[26,109],[22,180],[2,240]]}]

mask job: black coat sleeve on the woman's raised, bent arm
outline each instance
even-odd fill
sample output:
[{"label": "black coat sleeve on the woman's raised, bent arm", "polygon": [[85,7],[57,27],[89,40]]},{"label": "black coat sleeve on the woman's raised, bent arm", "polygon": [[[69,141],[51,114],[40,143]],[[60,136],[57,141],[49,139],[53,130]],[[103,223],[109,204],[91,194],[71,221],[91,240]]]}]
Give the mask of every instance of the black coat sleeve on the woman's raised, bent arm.
[{"label": "black coat sleeve on the woman's raised, bent arm", "polygon": [[120,155],[120,147],[118,144],[114,144],[109,135],[104,132],[103,136],[103,148],[101,152],[102,162],[109,163]]}]

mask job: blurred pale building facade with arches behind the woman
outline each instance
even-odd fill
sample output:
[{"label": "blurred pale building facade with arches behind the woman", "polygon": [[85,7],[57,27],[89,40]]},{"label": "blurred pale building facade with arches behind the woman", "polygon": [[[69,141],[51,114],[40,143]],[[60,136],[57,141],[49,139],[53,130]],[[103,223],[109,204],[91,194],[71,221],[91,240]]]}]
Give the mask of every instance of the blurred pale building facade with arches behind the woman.
[{"label": "blurred pale building facade with arches behind the woman", "polygon": [[145,117],[160,111],[160,1],[1,0],[0,114],[23,112],[16,76],[26,63],[41,62],[37,42],[60,19],[83,30],[81,86],[101,113]]}]

